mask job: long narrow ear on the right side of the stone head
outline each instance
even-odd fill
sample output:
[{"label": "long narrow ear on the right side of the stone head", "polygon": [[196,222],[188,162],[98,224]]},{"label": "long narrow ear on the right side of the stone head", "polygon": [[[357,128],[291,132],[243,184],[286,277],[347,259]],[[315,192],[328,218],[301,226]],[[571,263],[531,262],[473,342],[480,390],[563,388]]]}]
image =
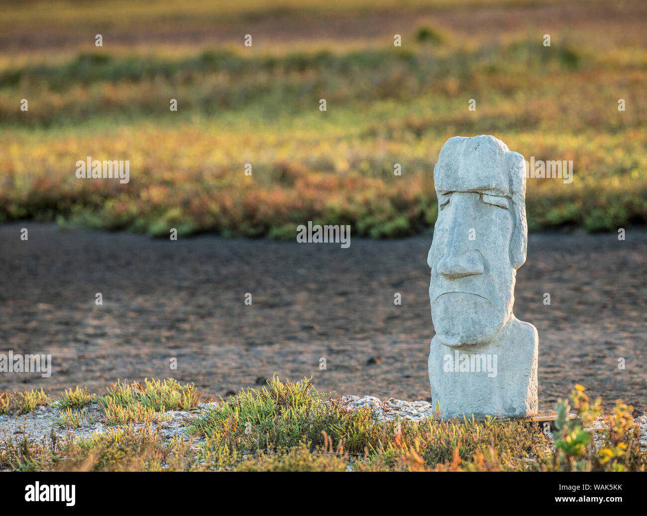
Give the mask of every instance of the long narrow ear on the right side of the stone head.
[{"label": "long narrow ear on the right side of the stone head", "polygon": [[528,224],[525,216],[525,162],[519,153],[509,153],[510,189],[512,190],[512,236],[510,263],[518,269],[525,263],[528,247]]}]

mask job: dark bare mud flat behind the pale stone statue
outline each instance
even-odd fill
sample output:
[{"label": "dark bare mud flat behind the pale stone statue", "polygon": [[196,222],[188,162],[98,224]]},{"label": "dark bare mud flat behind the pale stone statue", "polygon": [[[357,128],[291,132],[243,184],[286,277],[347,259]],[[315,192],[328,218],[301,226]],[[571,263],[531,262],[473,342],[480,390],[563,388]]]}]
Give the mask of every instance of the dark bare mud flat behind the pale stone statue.
[{"label": "dark bare mud flat behind the pale stone statue", "polygon": [[[351,235],[342,249],[23,223],[0,226],[0,239],[0,353],[52,355],[49,378],[0,373],[0,389],[43,387],[58,396],[74,385],[102,392],[118,378],[171,376],[225,396],[276,373],[313,376],[320,391],[340,394],[430,394],[431,237]],[[647,404],[646,277],[647,231],[628,231],[626,241],[530,235],[514,312],[540,335],[540,411],[575,383],[606,408],[617,398]]]}]

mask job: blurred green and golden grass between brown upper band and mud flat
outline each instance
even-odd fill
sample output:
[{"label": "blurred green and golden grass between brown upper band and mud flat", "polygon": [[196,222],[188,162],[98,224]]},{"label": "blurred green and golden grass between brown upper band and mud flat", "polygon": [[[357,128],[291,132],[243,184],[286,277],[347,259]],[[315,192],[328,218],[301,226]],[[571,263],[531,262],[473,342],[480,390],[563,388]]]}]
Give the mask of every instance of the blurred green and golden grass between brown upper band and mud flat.
[{"label": "blurred green and golden grass between brown upper band and mud flat", "polygon": [[[581,33],[551,47],[535,34],[468,44],[422,27],[422,41],[413,34],[401,48],[98,48],[6,63],[0,221],[294,239],[313,220],[357,236],[414,235],[435,222],[444,141],[494,134],[526,158],[573,160],[571,184],[529,179],[531,230],[647,223],[644,48],[598,48]],[[130,182],[77,179],[87,155],[129,160]]]}]

